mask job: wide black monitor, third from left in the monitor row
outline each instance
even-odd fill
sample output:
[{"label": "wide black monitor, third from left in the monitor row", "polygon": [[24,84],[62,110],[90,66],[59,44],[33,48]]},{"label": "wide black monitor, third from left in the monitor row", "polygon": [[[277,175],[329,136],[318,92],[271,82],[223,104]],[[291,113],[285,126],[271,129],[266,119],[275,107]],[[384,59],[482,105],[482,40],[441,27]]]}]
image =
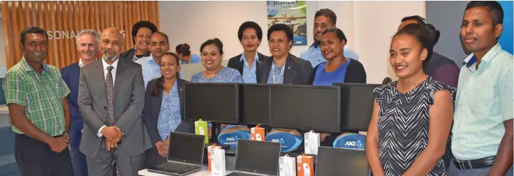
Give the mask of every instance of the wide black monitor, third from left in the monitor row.
[{"label": "wide black monitor, third from left in the monitor row", "polygon": [[338,133],[339,87],[271,86],[272,127]]}]

